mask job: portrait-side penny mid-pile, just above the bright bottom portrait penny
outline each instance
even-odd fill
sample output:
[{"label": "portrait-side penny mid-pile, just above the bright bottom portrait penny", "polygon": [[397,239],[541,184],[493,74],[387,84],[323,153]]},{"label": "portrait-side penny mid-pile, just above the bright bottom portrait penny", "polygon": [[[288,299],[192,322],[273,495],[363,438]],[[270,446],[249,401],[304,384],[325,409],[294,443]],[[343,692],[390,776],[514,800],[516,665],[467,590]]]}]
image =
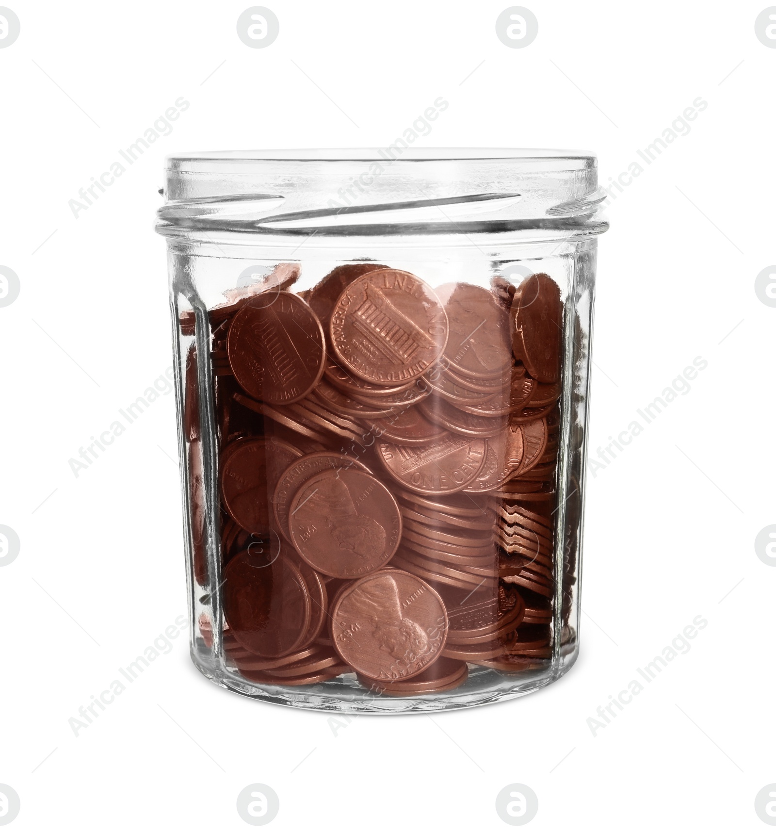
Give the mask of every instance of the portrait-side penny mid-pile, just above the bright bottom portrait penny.
[{"label": "portrait-side penny mid-pile, just above the bright bottom portrait penny", "polygon": [[291,501],[288,526],[300,556],[336,578],[378,570],[401,538],[394,496],[376,477],[353,468],[307,480]]}]

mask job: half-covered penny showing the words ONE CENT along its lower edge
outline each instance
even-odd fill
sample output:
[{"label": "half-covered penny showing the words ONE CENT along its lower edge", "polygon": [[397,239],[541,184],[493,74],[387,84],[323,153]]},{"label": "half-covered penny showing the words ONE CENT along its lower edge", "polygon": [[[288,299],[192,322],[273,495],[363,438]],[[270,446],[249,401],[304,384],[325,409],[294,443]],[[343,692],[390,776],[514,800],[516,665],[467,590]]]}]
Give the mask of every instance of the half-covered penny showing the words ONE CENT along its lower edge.
[{"label": "half-covered penny showing the words ONE CENT along its lower edge", "polygon": [[485,440],[445,436],[427,446],[377,446],[390,476],[421,495],[460,491],[475,479],[485,462]]}]

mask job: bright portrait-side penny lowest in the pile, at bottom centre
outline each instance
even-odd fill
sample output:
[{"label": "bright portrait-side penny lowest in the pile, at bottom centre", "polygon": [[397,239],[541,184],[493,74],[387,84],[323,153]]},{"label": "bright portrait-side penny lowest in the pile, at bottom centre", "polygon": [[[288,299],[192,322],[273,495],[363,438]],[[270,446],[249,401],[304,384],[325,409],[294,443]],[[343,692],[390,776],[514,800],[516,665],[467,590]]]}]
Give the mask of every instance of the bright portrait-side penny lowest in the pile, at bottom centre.
[{"label": "bright portrait-side penny lowest in the pile, at bottom centre", "polygon": [[439,594],[402,570],[352,582],[331,611],[337,653],[372,680],[405,680],[440,656],[447,613]]}]

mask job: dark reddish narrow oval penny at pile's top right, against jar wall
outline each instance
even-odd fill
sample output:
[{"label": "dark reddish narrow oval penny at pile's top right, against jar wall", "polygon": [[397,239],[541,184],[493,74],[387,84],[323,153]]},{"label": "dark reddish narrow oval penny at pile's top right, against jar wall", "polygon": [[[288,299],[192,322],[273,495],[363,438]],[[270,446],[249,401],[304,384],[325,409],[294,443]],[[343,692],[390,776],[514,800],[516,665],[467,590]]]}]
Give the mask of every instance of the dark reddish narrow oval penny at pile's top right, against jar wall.
[{"label": "dark reddish narrow oval penny at pile's top right, against jar wall", "polygon": [[563,333],[560,288],[544,272],[526,277],[517,287],[511,313],[515,356],[537,382],[557,382]]}]

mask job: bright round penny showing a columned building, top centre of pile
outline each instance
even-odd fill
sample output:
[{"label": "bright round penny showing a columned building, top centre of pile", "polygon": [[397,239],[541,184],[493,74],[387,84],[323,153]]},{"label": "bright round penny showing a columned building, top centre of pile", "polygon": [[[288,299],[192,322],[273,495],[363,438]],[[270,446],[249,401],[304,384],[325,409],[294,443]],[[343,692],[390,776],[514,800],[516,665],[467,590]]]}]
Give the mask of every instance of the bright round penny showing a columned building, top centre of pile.
[{"label": "bright round penny showing a columned building, top centre of pile", "polygon": [[340,362],[367,382],[392,385],[420,377],[445,349],[447,317],[420,278],[378,269],[342,292],[331,316]]}]

